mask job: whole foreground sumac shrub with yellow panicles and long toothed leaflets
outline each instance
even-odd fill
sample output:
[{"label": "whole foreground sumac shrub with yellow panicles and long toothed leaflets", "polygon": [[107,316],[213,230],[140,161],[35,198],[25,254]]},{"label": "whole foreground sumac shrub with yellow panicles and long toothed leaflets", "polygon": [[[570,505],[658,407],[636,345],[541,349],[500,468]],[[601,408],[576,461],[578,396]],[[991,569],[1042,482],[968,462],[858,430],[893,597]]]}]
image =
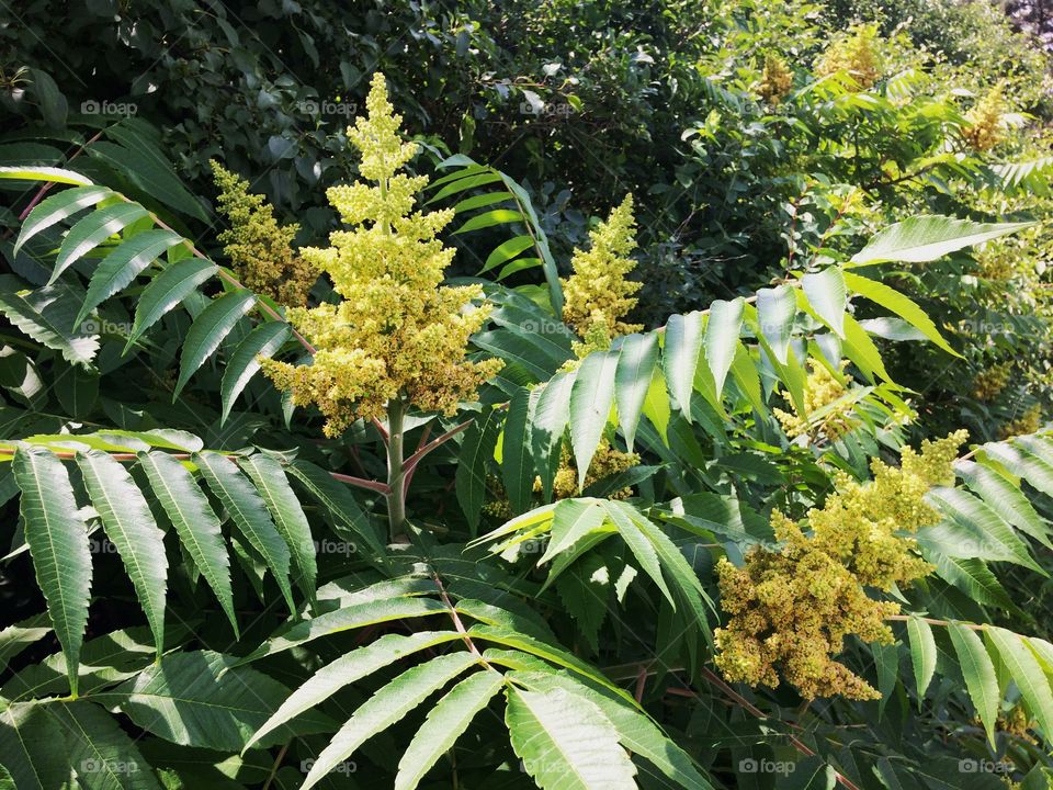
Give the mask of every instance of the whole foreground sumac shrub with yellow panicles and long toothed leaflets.
[{"label": "whole foreground sumac shrub with yellow panicles and long toothed leaflets", "polygon": [[960,350],[881,276],[1021,224],[645,331],[632,198],[555,261],[366,108],[328,246],[0,169],[0,787],[1049,787],[1053,438],[907,445],[887,350]]}]

